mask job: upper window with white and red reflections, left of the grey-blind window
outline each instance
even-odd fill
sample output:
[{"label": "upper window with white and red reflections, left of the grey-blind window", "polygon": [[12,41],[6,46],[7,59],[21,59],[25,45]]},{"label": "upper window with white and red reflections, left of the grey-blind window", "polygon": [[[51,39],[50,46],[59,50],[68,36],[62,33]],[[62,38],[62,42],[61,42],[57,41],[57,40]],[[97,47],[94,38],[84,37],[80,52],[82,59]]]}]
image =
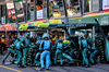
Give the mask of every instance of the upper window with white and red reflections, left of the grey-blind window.
[{"label": "upper window with white and red reflections, left of the grey-blind window", "polygon": [[66,0],[66,11],[69,16],[81,15],[80,0]]}]

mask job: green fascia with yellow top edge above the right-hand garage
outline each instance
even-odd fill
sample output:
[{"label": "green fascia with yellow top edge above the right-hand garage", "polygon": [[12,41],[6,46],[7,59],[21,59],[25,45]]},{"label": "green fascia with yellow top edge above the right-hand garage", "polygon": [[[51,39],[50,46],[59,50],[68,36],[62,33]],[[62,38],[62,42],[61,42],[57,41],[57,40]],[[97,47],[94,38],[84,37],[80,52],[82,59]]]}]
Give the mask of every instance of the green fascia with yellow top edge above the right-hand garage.
[{"label": "green fascia with yellow top edge above the right-hand garage", "polygon": [[[106,13],[106,12],[104,12]],[[95,17],[98,19],[98,22],[100,25],[109,25],[109,13],[100,14],[98,15],[90,15],[90,16],[84,16],[84,17],[75,17],[75,19],[69,19],[69,23],[95,23]]]}]

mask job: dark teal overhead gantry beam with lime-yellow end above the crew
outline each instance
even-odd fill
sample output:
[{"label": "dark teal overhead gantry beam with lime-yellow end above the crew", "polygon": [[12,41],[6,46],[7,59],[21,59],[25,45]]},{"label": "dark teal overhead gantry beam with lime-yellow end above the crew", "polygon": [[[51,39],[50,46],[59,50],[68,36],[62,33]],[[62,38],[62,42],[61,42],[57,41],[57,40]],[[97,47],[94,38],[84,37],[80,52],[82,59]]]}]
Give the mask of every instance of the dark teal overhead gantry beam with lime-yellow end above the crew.
[{"label": "dark teal overhead gantry beam with lime-yellow end above the crew", "polygon": [[[74,28],[78,28],[78,27],[93,27],[94,25],[97,25],[97,23],[83,23],[83,24],[78,24],[78,23],[68,23],[68,24],[49,24],[49,23],[43,23],[39,24],[38,26],[28,26],[27,28],[66,28],[66,27],[74,27]],[[27,29],[26,28],[26,29]]]}]

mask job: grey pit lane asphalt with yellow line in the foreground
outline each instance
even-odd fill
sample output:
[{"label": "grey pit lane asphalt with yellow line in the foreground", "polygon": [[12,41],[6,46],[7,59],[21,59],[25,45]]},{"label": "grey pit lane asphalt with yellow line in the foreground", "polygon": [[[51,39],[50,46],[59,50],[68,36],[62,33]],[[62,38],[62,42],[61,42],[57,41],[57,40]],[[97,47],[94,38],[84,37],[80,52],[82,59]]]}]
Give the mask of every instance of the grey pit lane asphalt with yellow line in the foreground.
[{"label": "grey pit lane asphalt with yellow line in the foreground", "polygon": [[50,67],[49,71],[39,71],[40,67],[19,68],[16,64],[4,65],[2,59],[4,55],[0,55],[0,72],[109,72],[109,63],[97,63],[90,68],[83,67]]}]

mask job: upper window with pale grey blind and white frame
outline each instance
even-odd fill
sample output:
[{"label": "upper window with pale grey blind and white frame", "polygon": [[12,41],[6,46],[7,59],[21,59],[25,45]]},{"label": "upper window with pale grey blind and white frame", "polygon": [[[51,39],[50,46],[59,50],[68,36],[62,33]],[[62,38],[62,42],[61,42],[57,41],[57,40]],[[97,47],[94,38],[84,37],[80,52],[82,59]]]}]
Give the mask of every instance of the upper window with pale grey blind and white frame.
[{"label": "upper window with pale grey blind and white frame", "polygon": [[99,0],[84,0],[83,13],[90,13],[99,11]]}]

